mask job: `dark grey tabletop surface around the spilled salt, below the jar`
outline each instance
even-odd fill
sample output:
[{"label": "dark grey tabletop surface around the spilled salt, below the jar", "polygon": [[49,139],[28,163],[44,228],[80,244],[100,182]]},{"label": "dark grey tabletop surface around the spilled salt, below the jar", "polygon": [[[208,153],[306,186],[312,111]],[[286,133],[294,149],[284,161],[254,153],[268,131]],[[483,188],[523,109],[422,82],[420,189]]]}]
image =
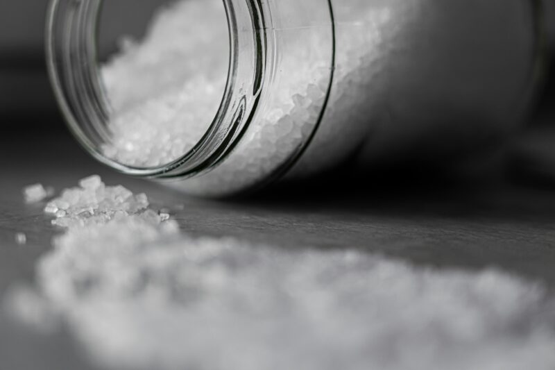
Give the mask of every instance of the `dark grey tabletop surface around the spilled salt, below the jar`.
[{"label": "dark grey tabletop surface around the spilled salt, below the jar", "polygon": [[[0,166],[0,295],[15,283],[32,282],[35,262],[49,251],[56,233],[42,205],[24,205],[22,187],[40,182],[59,191],[93,173],[146,192],[194,235],[237,236],[290,248],[349,246],[440,268],[496,266],[555,287],[551,190],[475,183],[407,192],[411,184],[406,183],[387,192],[318,186],[318,194],[204,201],[114,174],[89,159],[66,133],[25,131],[0,137]],[[15,243],[17,232],[26,233],[27,245]],[[69,335],[44,336],[0,319],[0,370],[89,367]]]}]

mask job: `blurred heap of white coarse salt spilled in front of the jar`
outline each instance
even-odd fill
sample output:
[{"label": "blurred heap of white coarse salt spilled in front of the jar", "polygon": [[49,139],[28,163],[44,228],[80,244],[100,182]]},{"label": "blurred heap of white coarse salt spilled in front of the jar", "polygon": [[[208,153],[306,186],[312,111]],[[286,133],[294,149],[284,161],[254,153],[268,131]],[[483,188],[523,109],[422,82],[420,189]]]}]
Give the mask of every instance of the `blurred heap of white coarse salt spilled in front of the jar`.
[{"label": "blurred heap of white coarse salt spilled in front of the jar", "polygon": [[61,320],[108,369],[555,367],[543,285],[350,249],[191,238],[142,207],[146,196],[115,201],[122,187],[99,187],[62,193],[79,199],[56,219],[67,229],[34,290],[15,289],[8,307],[38,328]]}]

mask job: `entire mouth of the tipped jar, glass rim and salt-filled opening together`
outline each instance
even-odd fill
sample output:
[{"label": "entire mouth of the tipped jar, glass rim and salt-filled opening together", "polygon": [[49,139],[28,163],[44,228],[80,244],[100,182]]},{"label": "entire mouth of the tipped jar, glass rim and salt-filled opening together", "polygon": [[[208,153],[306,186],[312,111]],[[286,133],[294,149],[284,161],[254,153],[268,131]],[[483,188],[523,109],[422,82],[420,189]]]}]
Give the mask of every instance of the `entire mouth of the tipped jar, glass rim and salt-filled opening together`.
[{"label": "entire mouth of the tipped jar, glass rim and salt-filled opening together", "polygon": [[239,141],[257,106],[266,70],[262,10],[244,0],[123,3],[129,17],[138,17],[130,3],[147,4],[146,31],[110,36],[129,23],[114,19],[119,1],[51,0],[49,74],[69,128],[125,174],[207,171]]}]

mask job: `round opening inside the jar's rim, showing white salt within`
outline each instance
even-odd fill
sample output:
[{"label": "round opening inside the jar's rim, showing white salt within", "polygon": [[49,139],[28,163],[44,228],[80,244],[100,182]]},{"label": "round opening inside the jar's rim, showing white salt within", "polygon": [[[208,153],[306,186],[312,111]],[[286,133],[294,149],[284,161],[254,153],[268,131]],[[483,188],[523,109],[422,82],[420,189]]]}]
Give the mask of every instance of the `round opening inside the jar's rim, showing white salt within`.
[{"label": "round opening inside the jar's rim, showing white salt within", "polygon": [[[230,33],[221,0],[142,2],[137,8],[152,10],[142,37],[117,29],[119,1],[101,6],[95,64],[108,135],[100,150],[128,167],[156,168],[189,153],[214,123],[228,82]],[[139,18],[125,23],[140,28]]]}]

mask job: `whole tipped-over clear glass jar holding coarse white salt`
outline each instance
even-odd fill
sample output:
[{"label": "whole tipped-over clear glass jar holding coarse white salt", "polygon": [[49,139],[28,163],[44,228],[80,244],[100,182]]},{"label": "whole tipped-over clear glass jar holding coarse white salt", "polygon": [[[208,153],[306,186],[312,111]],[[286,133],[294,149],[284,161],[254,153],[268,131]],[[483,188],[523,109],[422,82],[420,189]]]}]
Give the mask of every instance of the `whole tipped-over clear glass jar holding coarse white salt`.
[{"label": "whole tipped-over clear glass jar holding coarse white salt", "polygon": [[[221,94],[217,100],[198,97],[199,104],[211,100],[216,112],[188,118],[205,121],[200,134],[190,133],[186,124],[172,132],[155,124],[157,118],[146,131],[114,128],[111,87],[103,81],[98,58],[102,0],[52,0],[47,50],[58,101],[81,144],[124,174],[161,180],[190,194],[237,194],[345,162],[370,171],[376,162],[391,158],[454,165],[476,153],[486,155],[518,128],[540,81],[544,37],[539,1],[189,3],[220,6],[227,19],[229,50],[212,54],[220,60],[229,54],[225,83],[209,84]],[[208,13],[187,9],[183,16],[193,15],[181,23]],[[210,44],[218,40],[205,37],[210,29],[187,32]],[[189,58],[182,59],[185,66]],[[196,67],[206,63],[203,59]],[[181,76],[178,69],[172,71],[164,76]],[[147,109],[149,104],[136,106]],[[171,110],[179,103],[164,104]],[[167,117],[179,117],[176,112]],[[143,112],[142,123],[159,113]],[[128,141],[114,149],[121,131]],[[133,134],[141,140],[163,139],[133,143],[128,139]],[[194,142],[176,146],[171,141],[183,136]],[[164,155],[130,160],[129,153],[142,151]]]}]

